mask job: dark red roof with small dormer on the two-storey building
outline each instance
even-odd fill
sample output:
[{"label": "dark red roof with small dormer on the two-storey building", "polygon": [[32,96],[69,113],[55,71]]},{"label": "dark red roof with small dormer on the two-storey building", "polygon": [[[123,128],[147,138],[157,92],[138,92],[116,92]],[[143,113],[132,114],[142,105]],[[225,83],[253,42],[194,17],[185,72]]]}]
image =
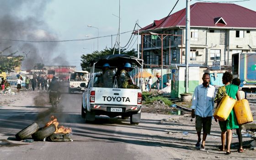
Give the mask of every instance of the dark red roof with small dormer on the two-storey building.
[{"label": "dark red roof with small dormer on the two-storey building", "polygon": [[[219,18],[226,22],[217,23]],[[142,30],[152,30],[157,28],[186,26],[186,8],[173,13],[161,24],[165,18],[154,21]],[[203,3],[198,2],[190,6],[190,26],[191,27],[243,27],[256,28],[256,11],[252,11],[240,5],[230,3]]]}]

